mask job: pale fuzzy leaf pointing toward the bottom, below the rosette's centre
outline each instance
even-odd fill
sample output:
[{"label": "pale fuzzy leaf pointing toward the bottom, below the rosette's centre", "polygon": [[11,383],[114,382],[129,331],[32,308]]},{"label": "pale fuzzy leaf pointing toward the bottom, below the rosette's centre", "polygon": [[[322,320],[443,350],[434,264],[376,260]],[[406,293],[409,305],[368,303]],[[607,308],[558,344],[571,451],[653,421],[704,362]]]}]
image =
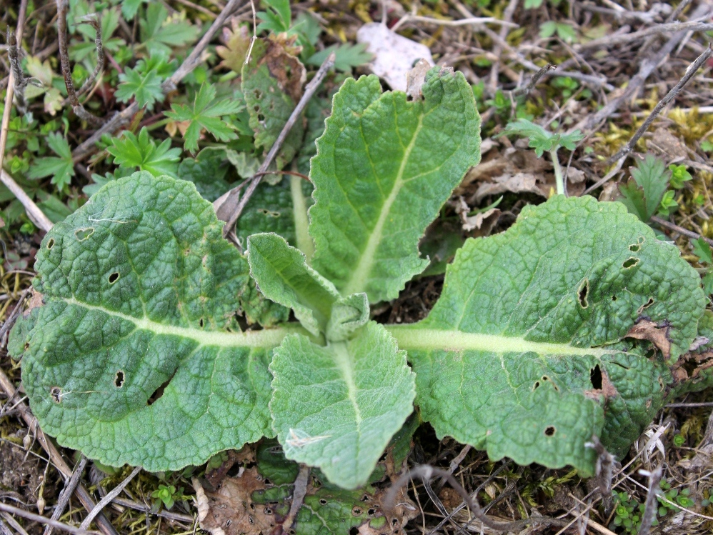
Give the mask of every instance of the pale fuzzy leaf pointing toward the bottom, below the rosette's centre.
[{"label": "pale fuzzy leaf pointing toward the bottom, below the rosette's centre", "polygon": [[288,459],[319,466],[355,489],[413,410],[414,374],[404,351],[373,321],[349,341],[317,346],[287,336],[270,364],[270,411]]}]

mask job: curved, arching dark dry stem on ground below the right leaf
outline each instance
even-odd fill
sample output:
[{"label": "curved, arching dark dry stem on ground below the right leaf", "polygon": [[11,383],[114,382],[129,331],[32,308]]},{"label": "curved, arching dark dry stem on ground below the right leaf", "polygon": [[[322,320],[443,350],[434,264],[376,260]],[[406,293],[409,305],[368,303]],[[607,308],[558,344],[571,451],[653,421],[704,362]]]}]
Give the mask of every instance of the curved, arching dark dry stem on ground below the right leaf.
[{"label": "curved, arching dark dry stem on ground below the right leaf", "polygon": [[485,526],[493,529],[495,531],[518,531],[525,526],[530,524],[542,524],[544,526],[566,526],[567,521],[560,519],[551,519],[547,516],[532,516],[529,519],[516,520],[512,522],[495,522],[489,519],[489,517],[483,512],[482,507],[477,502],[468,495],[467,491],[458,483],[458,481],[449,474],[448,471],[435,468],[434,466],[429,466],[427,464],[416,466],[413,469],[402,474],[401,477],[394,483],[389,492],[387,493],[386,499],[384,499],[384,509],[387,511],[387,515],[392,516],[392,511],[394,511],[394,501],[396,500],[396,493],[401,489],[402,486],[409,482],[409,479],[417,477],[422,481],[431,479],[433,476],[443,477],[448,481],[448,483],[453,487],[455,491],[460,494],[462,499],[466,502],[469,509],[472,511],[473,515],[481,521]]}]

